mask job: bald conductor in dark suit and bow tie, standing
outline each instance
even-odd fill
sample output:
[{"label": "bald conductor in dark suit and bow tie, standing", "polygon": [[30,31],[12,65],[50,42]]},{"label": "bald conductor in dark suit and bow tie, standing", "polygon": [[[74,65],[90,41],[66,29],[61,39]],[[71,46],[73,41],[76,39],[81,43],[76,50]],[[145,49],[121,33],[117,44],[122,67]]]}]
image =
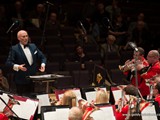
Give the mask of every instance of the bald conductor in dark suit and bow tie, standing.
[{"label": "bald conductor in dark suit and bow tie, standing", "polygon": [[[10,49],[6,65],[14,70],[14,82],[18,95],[29,95],[34,91],[34,84],[26,76],[35,75],[45,71],[46,57],[34,43],[29,43],[27,31],[20,30],[17,33],[19,43]],[[38,68],[40,60],[40,68]]]}]

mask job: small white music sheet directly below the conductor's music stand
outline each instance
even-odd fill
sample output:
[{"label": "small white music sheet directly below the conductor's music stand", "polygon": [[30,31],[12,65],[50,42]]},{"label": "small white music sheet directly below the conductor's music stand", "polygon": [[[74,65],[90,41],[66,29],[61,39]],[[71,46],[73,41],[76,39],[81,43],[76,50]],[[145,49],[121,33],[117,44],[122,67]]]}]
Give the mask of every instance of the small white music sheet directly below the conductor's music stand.
[{"label": "small white music sheet directly below the conductor's music stand", "polygon": [[41,106],[49,106],[51,103],[48,94],[37,95],[37,98],[39,99],[38,114],[40,114]]}]

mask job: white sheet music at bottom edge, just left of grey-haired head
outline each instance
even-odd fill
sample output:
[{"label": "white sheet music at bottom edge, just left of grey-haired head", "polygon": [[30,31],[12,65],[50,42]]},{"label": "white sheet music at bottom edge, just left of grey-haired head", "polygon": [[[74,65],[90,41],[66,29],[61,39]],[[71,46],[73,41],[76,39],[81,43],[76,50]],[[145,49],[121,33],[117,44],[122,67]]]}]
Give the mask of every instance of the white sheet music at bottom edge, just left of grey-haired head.
[{"label": "white sheet music at bottom edge, just left of grey-haired head", "polygon": [[44,113],[44,120],[68,120],[69,108],[56,108]]}]

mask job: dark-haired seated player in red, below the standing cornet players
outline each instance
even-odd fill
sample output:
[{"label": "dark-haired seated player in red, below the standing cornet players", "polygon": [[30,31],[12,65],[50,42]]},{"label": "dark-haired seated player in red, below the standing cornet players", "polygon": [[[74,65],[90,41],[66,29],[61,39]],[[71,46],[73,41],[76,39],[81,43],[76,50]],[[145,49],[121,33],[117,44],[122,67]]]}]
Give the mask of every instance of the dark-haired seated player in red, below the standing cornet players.
[{"label": "dark-haired seated player in red, below the standing cornet players", "polygon": [[[122,104],[122,102],[124,103],[123,106],[120,106],[121,108],[116,109],[116,119],[117,120],[141,119],[141,116],[139,115],[136,116],[134,114],[135,113],[140,114],[143,111],[143,109],[149,105],[149,102],[145,101],[143,98],[139,98],[139,92],[137,88],[133,85],[128,85],[123,90],[126,95],[129,95],[130,98],[128,101],[122,101],[125,99],[121,98],[118,102],[115,103],[116,106],[117,105],[119,106],[120,103]],[[137,106],[139,107],[137,108]]]}]

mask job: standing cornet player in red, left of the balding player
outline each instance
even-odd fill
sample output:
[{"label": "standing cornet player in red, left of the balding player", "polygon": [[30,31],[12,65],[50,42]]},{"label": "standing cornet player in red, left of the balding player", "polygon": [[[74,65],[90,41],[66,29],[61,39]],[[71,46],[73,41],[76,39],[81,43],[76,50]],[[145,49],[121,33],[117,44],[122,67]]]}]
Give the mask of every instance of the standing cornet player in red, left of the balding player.
[{"label": "standing cornet player in red, left of the balding player", "polygon": [[[127,60],[125,65],[119,66],[120,70],[127,76],[127,79],[131,81],[131,84],[136,86],[136,76],[135,76],[135,64],[138,66],[141,64],[144,68],[149,66],[147,60],[144,58],[144,49],[142,47],[137,48],[138,51],[134,51],[133,59]],[[137,63],[135,63],[135,61]],[[139,72],[137,72],[137,82],[138,89],[142,94],[143,98],[146,98],[149,94],[149,87],[146,85],[144,78],[141,77]]]}]

